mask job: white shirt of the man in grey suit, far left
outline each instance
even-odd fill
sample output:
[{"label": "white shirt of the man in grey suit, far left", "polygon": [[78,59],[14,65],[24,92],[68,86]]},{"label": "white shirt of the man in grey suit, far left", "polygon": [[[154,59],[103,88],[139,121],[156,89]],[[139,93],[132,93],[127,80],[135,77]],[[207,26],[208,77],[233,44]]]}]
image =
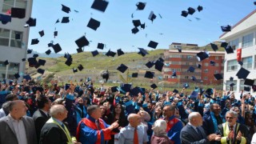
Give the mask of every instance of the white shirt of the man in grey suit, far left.
[{"label": "white shirt of the man in grey suit, far left", "polygon": [[[10,116],[10,114],[8,116]],[[27,144],[26,130],[22,119],[15,120],[10,116],[10,120],[14,126],[15,134],[18,139],[18,144]]]}]

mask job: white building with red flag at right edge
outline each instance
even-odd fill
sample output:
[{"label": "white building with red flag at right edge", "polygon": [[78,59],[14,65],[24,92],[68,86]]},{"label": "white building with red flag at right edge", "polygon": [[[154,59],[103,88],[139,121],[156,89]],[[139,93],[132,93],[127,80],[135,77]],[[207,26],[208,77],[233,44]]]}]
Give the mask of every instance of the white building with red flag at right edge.
[{"label": "white building with red flag at right edge", "polygon": [[[230,83],[234,83],[233,90],[238,94],[244,89],[244,79],[238,79],[236,74],[241,67],[250,71],[247,78],[256,79],[256,10],[248,14],[245,18],[242,18],[240,22],[235,24],[230,32],[222,34],[219,38],[225,40],[229,46],[232,46],[234,54],[225,54],[226,62],[224,69],[224,86],[225,90],[230,89]],[[237,49],[242,48],[242,62],[240,66],[237,61]],[[230,77],[234,78],[233,82],[230,82]],[[254,82],[255,85],[256,82]],[[253,92],[250,90],[250,92]]]}]

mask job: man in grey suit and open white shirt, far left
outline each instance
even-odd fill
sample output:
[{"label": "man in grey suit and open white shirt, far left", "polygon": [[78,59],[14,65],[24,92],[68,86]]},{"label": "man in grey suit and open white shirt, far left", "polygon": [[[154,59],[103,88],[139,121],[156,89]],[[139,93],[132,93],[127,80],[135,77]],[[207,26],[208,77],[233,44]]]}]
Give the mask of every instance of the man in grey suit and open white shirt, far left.
[{"label": "man in grey suit and open white shirt, far left", "polygon": [[37,143],[33,118],[26,116],[22,100],[10,102],[10,114],[0,119],[0,144]]}]

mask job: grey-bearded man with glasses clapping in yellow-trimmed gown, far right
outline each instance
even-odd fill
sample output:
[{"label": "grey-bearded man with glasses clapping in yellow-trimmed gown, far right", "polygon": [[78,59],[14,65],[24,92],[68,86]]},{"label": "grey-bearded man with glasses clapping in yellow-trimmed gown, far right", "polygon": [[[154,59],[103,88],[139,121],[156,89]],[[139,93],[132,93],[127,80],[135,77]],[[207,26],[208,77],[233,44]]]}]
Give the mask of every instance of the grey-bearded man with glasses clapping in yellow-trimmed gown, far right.
[{"label": "grey-bearded man with glasses clapping in yellow-trimmed gown, far right", "polygon": [[218,133],[222,135],[221,143],[250,143],[249,130],[237,120],[236,112],[232,110],[226,112],[226,122],[218,125]]}]

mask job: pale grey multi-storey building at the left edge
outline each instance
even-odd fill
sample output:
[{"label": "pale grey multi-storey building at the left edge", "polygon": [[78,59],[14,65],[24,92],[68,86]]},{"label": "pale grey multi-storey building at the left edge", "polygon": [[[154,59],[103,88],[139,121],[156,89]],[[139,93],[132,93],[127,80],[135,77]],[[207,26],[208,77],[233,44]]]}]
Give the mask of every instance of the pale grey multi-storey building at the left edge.
[{"label": "pale grey multi-storey building at the left edge", "polygon": [[[0,80],[14,79],[14,74],[24,74],[28,46],[29,27],[24,27],[31,16],[33,0],[0,0],[0,14],[9,14],[12,7],[26,9],[25,18],[11,18],[11,22],[0,22]],[[20,38],[15,38],[18,35]],[[4,62],[8,60],[9,65]],[[22,78],[19,78],[21,80]]]}]

